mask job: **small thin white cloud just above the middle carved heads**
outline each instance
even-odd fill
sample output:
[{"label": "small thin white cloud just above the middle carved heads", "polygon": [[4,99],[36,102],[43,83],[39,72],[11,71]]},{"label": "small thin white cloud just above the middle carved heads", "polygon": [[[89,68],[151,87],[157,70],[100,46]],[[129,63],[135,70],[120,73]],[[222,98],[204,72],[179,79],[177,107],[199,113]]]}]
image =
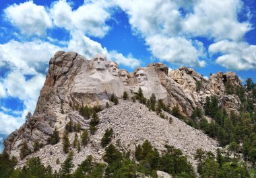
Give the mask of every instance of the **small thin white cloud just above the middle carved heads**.
[{"label": "small thin white cloud just above the middle carved heads", "polygon": [[118,64],[123,64],[131,68],[134,68],[135,66],[139,66],[139,64],[141,64],[141,61],[137,58],[134,58],[131,54],[125,57],[123,56],[123,54],[118,53],[115,50],[108,52],[108,58],[110,60],[116,61]]}]

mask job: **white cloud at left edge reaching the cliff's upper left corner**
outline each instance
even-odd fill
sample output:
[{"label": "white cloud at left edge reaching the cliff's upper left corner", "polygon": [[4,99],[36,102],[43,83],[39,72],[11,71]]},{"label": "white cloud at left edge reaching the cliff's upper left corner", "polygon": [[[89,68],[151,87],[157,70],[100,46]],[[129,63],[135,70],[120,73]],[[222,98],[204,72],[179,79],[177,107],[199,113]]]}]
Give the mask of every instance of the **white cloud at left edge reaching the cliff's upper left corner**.
[{"label": "white cloud at left edge reaching the cliff's upper left corner", "polygon": [[34,75],[38,71],[44,73],[50,58],[60,47],[42,41],[17,42],[11,40],[0,44],[1,63],[24,75]]}]

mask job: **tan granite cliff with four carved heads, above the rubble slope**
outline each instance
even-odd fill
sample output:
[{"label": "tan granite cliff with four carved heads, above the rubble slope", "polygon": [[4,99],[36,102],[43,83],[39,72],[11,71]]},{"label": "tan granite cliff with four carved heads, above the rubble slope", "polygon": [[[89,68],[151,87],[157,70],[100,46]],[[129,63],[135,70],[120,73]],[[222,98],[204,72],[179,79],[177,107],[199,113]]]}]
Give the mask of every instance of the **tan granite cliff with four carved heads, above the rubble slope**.
[{"label": "tan granite cliff with four carved heads, above the rubble slope", "polygon": [[[30,150],[33,150],[36,140],[46,145],[55,128],[59,130],[60,136],[63,136],[62,131],[70,120],[79,123],[82,129],[88,129],[90,121],[84,120],[77,112],[77,108],[84,105],[104,108],[107,102],[110,103],[111,95],[121,98],[126,91],[129,97],[132,97],[138,92],[139,87],[144,97],[149,99],[154,93],[156,99],[162,99],[170,109],[179,105],[183,115],[191,116],[195,107],[203,107],[206,96],[218,95],[219,99],[224,98],[222,96],[225,80],[241,85],[241,81],[234,73],[217,73],[207,81],[193,69],[181,67],[168,71],[168,67],[162,63],[138,67],[129,73],[125,69],[119,69],[117,62],[108,60],[102,54],[96,54],[88,60],[76,52],[59,51],[49,62],[49,71],[34,114],[20,129],[8,136],[4,142],[5,151],[19,157],[23,142],[28,144]],[[199,91],[195,87],[197,82],[201,82]],[[227,109],[237,109],[240,102],[232,95],[228,95],[225,101],[224,106],[228,107]],[[140,116],[137,114],[139,111],[134,112],[136,117]],[[149,114],[150,118],[151,115]],[[104,127],[106,126],[102,125],[102,128]],[[192,132],[188,129],[188,132]],[[179,131],[179,128],[177,130]]]}]

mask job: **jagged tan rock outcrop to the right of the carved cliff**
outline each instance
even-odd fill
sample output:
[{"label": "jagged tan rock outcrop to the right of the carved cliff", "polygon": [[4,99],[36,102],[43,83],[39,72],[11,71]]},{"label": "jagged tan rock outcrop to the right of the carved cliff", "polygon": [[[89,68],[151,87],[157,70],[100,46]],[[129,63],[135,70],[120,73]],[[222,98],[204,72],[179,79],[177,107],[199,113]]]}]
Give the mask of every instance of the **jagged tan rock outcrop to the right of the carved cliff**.
[{"label": "jagged tan rock outcrop to the right of the carved cliff", "polygon": [[209,80],[204,79],[193,69],[181,67],[168,72],[168,77],[181,85],[184,93],[189,95],[197,107],[203,107],[206,97],[217,96],[220,107],[226,108],[227,112],[238,112],[241,105],[236,95],[226,95],[225,85],[230,84],[234,88],[241,87],[242,83],[233,72],[212,74]]}]

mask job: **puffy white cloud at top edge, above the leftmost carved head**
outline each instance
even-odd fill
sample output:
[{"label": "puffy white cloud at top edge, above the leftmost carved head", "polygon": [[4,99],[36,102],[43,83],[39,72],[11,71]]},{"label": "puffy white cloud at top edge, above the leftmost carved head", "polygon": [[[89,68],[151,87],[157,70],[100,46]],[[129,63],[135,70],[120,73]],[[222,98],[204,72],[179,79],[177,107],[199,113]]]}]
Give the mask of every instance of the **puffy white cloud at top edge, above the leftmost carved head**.
[{"label": "puffy white cloud at top edge, above the leftmost carved head", "polygon": [[110,18],[107,1],[85,1],[84,5],[72,10],[67,1],[57,1],[51,8],[55,26],[67,30],[79,30],[84,34],[103,37],[108,32],[106,20]]}]

